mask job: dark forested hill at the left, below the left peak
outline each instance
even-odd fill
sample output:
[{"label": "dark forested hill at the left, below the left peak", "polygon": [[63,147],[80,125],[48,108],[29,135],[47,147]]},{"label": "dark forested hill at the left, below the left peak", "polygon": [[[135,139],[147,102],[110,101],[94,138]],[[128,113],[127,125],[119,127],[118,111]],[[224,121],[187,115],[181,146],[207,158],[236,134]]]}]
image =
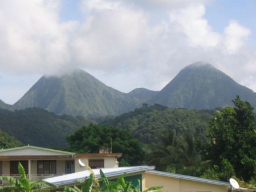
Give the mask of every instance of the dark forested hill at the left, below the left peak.
[{"label": "dark forested hill at the left, below the left peak", "polygon": [[84,117],[55,115],[39,108],[15,111],[0,109],[0,130],[25,145],[65,147],[68,134],[91,122]]}]

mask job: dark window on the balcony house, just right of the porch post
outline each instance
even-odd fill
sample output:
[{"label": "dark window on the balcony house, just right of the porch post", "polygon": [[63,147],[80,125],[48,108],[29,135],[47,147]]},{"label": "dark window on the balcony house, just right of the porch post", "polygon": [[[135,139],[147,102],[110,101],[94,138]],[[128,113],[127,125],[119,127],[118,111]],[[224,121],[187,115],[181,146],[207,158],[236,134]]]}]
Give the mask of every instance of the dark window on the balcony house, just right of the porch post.
[{"label": "dark window on the balcony house, just right of the porch post", "polygon": [[37,174],[56,174],[56,161],[37,161]]}]

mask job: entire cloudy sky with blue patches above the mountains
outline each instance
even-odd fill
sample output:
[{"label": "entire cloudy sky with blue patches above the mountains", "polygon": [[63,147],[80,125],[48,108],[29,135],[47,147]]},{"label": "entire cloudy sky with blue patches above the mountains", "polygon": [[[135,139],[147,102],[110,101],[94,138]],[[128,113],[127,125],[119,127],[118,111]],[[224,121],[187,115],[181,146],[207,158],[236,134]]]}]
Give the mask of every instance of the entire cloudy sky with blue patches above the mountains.
[{"label": "entire cloudy sky with blue patches above the mountains", "polygon": [[125,93],[211,63],[256,91],[256,1],[1,0],[0,99],[80,68]]}]

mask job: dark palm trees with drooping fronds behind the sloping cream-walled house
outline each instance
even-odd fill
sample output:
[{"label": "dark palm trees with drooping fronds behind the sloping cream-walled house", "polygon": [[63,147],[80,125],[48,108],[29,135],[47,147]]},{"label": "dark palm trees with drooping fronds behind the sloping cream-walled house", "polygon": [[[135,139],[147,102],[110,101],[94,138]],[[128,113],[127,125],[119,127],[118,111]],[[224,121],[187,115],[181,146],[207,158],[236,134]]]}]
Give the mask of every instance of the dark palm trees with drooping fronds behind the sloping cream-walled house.
[{"label": "dark palm trees with drooping fronds behind the sloping cream-walled house", "polygon": [[158,170],[201,176],[201,154],[195,144],[191,133],[177,137],[173,130],[163,131],[158,143],[149,145],[148,161]]}]

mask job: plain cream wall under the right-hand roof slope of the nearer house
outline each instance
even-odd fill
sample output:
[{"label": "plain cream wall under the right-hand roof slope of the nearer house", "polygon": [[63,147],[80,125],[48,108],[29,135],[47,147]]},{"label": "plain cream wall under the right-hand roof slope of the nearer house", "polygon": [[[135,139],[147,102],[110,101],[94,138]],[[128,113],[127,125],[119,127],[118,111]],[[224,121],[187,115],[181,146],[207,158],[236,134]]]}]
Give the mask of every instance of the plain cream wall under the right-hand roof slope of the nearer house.
[{"label": "plain cream wall under the right-hand roof slope of the nearer house", "polygon": [[227,192],[226,186],[145,173],[143,190],[153,186],[163,186],[166,192]]}]

